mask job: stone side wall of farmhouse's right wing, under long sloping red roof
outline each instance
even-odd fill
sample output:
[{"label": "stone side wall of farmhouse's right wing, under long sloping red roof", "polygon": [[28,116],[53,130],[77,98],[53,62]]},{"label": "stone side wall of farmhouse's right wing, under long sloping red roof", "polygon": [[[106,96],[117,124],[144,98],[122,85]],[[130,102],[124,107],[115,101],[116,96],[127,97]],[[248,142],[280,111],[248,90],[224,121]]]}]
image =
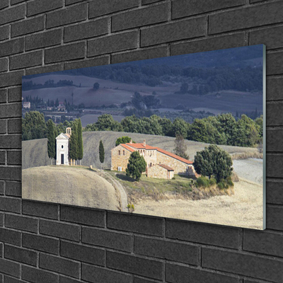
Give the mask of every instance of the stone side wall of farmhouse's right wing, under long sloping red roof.
[{"label": "stone side wall of farmhouse's right wing, under long sloping red roof", "polygon": [[[193,166],[182,161],[178,161],[178,159],[172,158],[166,154],[162,154],[157,151],[156,155],[156,163],[157,164],[165,164],[174,169],[175,174],[181,175],[194,175]],[[190,169],[192,168],[192,169]]]}]

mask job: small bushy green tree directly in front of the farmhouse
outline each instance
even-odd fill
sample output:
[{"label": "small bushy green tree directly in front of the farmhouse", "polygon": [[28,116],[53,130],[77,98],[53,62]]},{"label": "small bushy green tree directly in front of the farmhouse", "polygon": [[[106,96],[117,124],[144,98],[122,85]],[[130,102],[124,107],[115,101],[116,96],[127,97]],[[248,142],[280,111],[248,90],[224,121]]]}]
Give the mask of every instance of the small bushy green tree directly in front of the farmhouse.
[{"label": "small bushy green tree directly in front of the farmhouse", "polygon": [[144,157],[139,154],[139,151],[134,151],[129,156],[129,162],[126,168],[126,174],[129,177],[139,181],[141,173],[146,171],[146,161]]}]

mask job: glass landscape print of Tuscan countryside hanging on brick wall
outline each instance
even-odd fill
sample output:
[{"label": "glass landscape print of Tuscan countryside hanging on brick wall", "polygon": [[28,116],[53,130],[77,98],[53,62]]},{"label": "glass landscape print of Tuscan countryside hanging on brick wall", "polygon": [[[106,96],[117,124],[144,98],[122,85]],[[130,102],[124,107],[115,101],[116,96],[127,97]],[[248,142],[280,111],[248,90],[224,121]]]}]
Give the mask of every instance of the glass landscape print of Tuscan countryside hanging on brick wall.
[{"label": "glass landscape print of Tuscan countryside hanging on brick wall", "polygon": [[24,199],[265,229],[265,45],[23,76]]}]

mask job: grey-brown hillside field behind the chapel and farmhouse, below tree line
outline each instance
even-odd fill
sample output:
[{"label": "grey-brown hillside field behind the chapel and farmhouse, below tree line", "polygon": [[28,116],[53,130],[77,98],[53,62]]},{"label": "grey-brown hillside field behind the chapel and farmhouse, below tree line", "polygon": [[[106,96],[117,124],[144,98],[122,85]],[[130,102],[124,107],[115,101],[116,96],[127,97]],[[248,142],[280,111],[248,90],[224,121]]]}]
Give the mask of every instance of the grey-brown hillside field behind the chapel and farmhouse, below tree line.
[{"label": "grey-brown hillside field behind the chapel and farmhouse, below tree line", "polygon": [[[115,147],[115,141],[118,137],[129,136],[136,142],[142,142],[146,139],[146,144],[158,146],[161,149],[173,152],[175,138],[155,136],[151,134],[135,134],[127,132],[83,132],[83,159],[81,165],[100,168],[98,145],[100,139],[103,141],[105,149],[105,162],[103,168],[110,168],[111,149]],[[190,160],[193,160],[197,151],[201,151],[208,144],[197,141],[187,141],[187,154]],[[219,146],[229,154],[244,153],[248,151],[257,151],[248,147],[239,146]],[[34,139],[23,141],[23,169],[37,166],[50,165],[50,158],[47,156],[47,139]]]}]

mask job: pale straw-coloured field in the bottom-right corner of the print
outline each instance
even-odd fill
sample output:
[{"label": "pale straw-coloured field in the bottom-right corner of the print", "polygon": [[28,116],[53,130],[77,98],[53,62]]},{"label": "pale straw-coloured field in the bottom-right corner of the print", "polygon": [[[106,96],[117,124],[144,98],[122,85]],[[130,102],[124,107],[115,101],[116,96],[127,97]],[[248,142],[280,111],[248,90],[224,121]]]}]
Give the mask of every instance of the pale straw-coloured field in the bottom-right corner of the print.
[{"label": "pale straw-coloured field in the bottom-right corner of the print", "polygon": [[147,200],[134,205],[135,213],[262,229],[262,185],[240,179],[235,195],[207,200]]}]

